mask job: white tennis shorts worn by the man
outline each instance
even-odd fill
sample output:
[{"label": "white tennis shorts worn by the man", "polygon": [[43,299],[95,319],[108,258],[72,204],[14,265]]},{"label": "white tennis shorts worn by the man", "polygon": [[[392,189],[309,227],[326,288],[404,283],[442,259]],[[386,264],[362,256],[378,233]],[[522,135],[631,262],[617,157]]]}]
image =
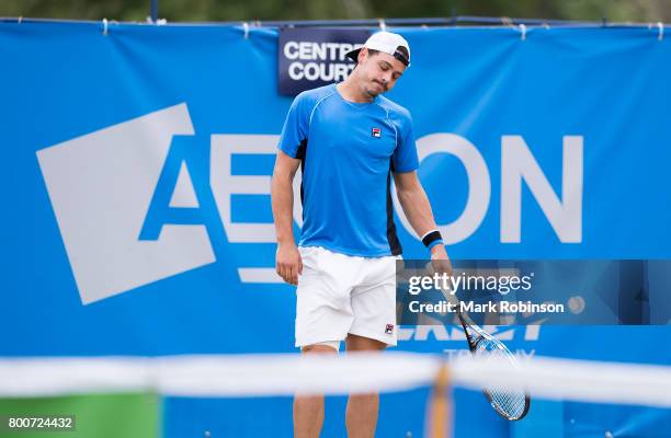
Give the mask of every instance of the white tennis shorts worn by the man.
[{"label": "white tennis shorts worn by the man", "polygon": [[348,334],[396,345],[396,260],[299,247],[296,347],[343,341]]}]

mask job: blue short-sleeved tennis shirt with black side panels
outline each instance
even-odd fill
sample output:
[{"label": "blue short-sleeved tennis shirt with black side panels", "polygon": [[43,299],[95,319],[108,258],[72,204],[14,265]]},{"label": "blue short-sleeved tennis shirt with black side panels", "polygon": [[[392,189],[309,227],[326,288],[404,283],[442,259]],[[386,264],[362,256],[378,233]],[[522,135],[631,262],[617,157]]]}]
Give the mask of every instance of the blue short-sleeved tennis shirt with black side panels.
[{"label": "blue short-sleeved tennis shirt with black side panels", "polygon": [[391,172],[419,166],[410,113],[384,96],[345,101],[336,85],[296,96],[278,148],[302,160],[300,246],[398,255]]}]

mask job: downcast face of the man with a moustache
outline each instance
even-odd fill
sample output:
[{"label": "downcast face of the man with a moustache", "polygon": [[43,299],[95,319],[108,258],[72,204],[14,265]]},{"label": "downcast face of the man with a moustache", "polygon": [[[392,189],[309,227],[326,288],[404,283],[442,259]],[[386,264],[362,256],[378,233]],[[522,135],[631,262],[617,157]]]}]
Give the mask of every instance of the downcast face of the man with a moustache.
[{"label": "downcast face of the man with a moustache", "polygon": [[363,48],[359,53],[360,87],[364,94],[375,97],[394,88],[396,81],[403,74],[406,66],[385,53],[371,54]]}]

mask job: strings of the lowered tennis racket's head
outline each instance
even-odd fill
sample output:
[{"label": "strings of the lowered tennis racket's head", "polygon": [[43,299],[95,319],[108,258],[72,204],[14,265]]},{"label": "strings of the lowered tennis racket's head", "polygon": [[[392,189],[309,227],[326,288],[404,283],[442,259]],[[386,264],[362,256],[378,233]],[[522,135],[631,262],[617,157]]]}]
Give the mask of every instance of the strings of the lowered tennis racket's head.
[{"label": "strings of the lowered tennis racket's head", "polygon": [[[494,338],[480,337],[477,343],[478,355],[512,359],[512,353]],[[492,406],[510,419],[521,418],[526,411],[526,393],[514,385],[497,385],[486,389]]]}]

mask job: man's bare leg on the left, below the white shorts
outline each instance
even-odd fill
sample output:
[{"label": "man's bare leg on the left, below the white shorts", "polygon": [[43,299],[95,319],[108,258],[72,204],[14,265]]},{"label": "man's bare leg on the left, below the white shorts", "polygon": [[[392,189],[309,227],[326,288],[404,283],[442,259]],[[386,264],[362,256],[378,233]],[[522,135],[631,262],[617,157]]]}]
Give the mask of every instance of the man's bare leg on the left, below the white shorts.
[{"label": "man's bare leg on the left, below the white shorts", "polygon": [[[304,355],[336,355],[327,345],[303,347]],[[294,397],[294,438],[318,438],[323,424],[323,395],[296,395]]]}]

